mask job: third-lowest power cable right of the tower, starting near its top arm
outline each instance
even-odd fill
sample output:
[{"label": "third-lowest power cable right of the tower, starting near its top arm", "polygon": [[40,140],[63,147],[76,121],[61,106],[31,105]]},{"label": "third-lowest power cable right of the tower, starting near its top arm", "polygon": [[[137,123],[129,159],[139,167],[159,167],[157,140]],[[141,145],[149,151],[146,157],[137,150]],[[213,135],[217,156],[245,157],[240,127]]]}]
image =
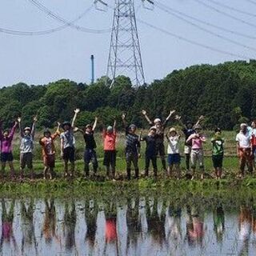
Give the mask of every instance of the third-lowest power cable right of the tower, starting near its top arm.
[{"label": "third-lowest power cable right of the tower, starting near its top arm", "polygon": [[161,6],[165,7],[166,9],[169,9],[169,10],[173,11],[174,13],[177,13],[177,14],[180,14],[182,16],[185,16],[186,18],[190,18],[190,19],[192,19],[192,20],[194,20],[196,22],[200,22],[200,23],[202,23],[202,24],[204,24],[206,26],[214,27],[215,29],[225,31],[225,32],[230,33],[230,34],[235,34],[235,35],[241,36],[243,38],[256,39],[256,37],[254,37],[254,36],[252,36],[250,34],[243,34],[243,33],[240,33],[238,31],[235,31],[235,30],[229,30],[229,29],[226,29],[225,27],[217,26],[217,25],[215,25],[213,23],[203,21],[202,19],[199,19],[199,18],[195,18],[193,16],[190,16],[189,14],[185,14],[185,13],[179,11],[179,10],[175,10],[174,8],[171,8],[170,6],[166,6],[166,5],[162,4],[161,2],[158,2],[158,3],[155,2],[154,5],[155,6],[161,5]]}]

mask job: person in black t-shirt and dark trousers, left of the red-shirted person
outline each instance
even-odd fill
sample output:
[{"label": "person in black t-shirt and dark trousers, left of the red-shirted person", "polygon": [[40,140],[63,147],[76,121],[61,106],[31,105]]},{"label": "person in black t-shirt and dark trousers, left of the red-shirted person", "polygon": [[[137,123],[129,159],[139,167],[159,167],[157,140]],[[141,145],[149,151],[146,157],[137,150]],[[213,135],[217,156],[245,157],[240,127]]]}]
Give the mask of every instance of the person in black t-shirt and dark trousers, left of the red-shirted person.
[{"label": "person in black t-shirt and dark trousers, left of the red-shirted person", "polygon": [[97,126],[98,118],[95,117],[94,124],[88,124],[86,125],[84,130],[78,129],[83,135],[83,138],[86,143],[85,147],[85,153],[84,153],[84,173],[85,177],[88,178],[90,176],[90,162],[93,165],[94,168],[94,175],[97,173],[98,170],[98,159],[97,159],[97,154],[96,154],[96,142],[94,139],[94,130]]}]

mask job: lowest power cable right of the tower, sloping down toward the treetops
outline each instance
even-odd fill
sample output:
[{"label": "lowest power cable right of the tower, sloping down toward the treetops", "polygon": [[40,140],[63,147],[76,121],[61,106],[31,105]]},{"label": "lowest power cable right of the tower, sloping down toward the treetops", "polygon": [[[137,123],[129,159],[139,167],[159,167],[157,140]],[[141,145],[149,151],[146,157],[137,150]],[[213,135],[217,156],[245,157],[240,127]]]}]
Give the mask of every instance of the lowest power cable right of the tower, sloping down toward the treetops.
[{"label": "lowest power cable right of the tower, sloping down toward the treetops", "polygon": [[145,22],[145,21],[142,21],[141,19],[137,18],[137,21],[146,25],[146,26],[150,26],[151,28],[153,28],[154,30],[159,30],[161,31],[162,33],[164,34],[168,34],[170,35],[171,37],[173,38],[178,38],[179,40],[182,40],[184,42],[189,42],[190,44],[193,44],[195,46],[200,46],[202,48],[205,48],[207,50],[212,50],[212,51],[215,51],[215,52],[218,52],[220,54],[226,54],[226,55],[230,55],[232,57],[235,57],[235,58],[242,58],[242,59],[245,59],[245,60],[249,60],[251,59],[250,57],[246,56],[246,55],[242,55],[242,54],[233,54],[231,53],[230,51],[226,51],[226,50],[219,50],[218,48],[215,48],[215,47],[212,47],[212,46],[207,46],[205,44],[202,44],[201,42],[196,42],[194,40],[191,40],[191,39],[188,39],[188,38],[184,38],[182,37],[181,35],[178,35],[178,34],[174,34],[168,30],[164,30],[162,29],[161,27],[158,27],[158,26],[154,26],[148,22]]}]

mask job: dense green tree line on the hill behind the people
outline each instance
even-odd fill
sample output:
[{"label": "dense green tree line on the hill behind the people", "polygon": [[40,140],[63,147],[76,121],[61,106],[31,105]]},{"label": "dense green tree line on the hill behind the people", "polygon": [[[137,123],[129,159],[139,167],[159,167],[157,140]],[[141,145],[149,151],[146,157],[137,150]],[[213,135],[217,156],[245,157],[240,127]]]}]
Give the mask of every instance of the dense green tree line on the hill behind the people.
[{"label": "dense green tree line on the hill behind the people", "polygon": [[0,89],[0,118],[7,127],[22,115],[24,125],[30,125],[31,116],[38,114],[38,126],[53,127],[57,120],[70,120],[78,107],[78,126],[93,122],[94,116],[107,125],[126,112],[129,122],[146,128],[142,109],[152,118],[166,118],[174,109],[183,122],[202,114],[206,129],[233,130],[238,122],[256,118],[255,71],[254,60],[190,66],[138,88],[125,76],[111,88],[105,86],[105,77],[92,85],[67,79],[38,86],[19,82]]}]

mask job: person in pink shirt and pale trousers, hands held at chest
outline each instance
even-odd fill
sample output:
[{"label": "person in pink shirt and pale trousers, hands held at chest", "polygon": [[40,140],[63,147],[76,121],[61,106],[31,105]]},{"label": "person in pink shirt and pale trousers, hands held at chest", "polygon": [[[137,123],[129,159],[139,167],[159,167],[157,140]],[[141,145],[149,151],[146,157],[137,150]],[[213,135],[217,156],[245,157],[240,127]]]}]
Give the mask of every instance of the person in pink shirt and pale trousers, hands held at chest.
[{"label": "person in pink shirt and pale trousers, hands held at chest", "polygon": [[192,142],[191,147],[191,170],[192,178],[194,179],[195,169],[197,162],[199,163],[199,168],[201,170],[201,179],[204,178],[204,164],[203,164],[203,150],[202,143],[206,142],[206,138],[202,135],[202,127],[194,126],[195,134],[191,134],[186,142]]}]

